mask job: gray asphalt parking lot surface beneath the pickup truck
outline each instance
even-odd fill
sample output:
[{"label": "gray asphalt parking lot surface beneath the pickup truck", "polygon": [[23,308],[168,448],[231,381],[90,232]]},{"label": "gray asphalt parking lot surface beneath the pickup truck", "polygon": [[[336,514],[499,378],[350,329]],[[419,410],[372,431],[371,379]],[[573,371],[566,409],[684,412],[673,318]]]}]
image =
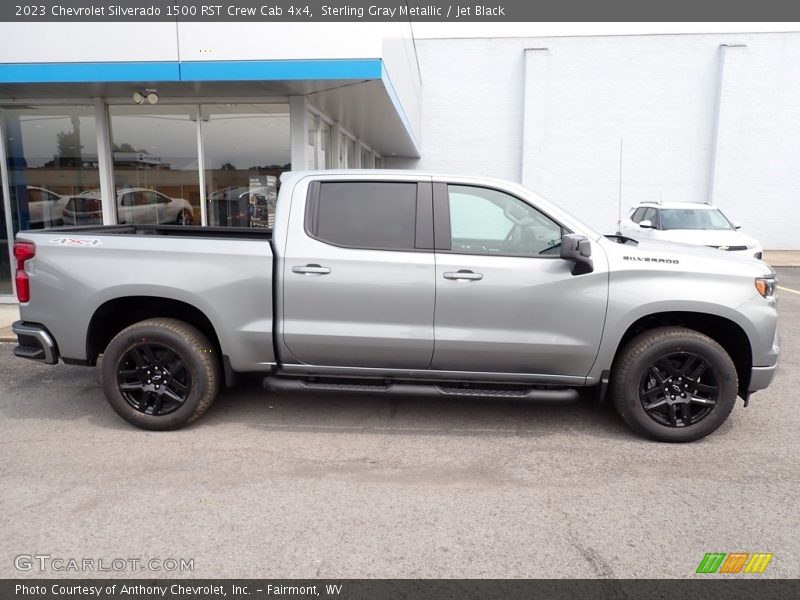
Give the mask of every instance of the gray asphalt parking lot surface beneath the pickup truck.
[{"label": "gray asphalt parking lot surface beneath the pickup truck", "polygon": [[[800,268],[778,271],[800,291]],[[712,551],[772,552],[758,577],[800,577],[800,293],[779,298],[773,386],[688,445],[640,439],[587,400],[256,382],[150,433],[112,412],[97,370],[1,344],[0,577],[87,575],[15,569],[49,554],[194,559],[191,573],[103,576],[683,578]]]}]

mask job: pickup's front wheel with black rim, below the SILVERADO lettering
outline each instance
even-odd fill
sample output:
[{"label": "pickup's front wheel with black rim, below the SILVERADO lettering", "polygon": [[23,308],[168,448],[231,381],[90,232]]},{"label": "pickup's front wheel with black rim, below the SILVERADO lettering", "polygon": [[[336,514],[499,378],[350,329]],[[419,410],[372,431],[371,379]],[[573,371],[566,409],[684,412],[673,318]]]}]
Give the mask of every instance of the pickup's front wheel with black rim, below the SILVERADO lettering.
[{"label": "pickup's front wheel with black rim, below the SILVERADO lettering", "polygon": [[710,337],[660,327],[620,351],[611,385],[614,406],[634,431],[660,442],[693,442],[728,418],[738,379],[730,356]]}]

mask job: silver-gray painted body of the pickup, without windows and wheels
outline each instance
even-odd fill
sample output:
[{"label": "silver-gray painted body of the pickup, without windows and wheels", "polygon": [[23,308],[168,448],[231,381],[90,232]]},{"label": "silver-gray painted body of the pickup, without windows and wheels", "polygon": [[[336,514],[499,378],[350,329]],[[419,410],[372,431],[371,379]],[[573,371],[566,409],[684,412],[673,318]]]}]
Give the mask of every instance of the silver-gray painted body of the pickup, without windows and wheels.
[{"label": "silver-gray painted body of the pickup, without windows and wheels", "polygon": [[[594,271],[573,276],[559,258],[351,250],[310,238],[303,226],[309,183],[353,179],[514,194],[587,236]],[[590,385],[611,368],[634,322],[665,311],[738,324],[751,345],[751,391],[769,385],[778,362],[775,301],[754,286],[755,277],[774,274],[765,263],[679,244],[617,244],[503,181],[408,171],[292,173],[283,178],[271,245],[100,228],[87,236],[101,243],[65,246],[50,241],[52,231],[17,236],[37,248],[26,263],[32,301],[20,306],[22,319],[45,325],[61,356],[73,359],[86,358],[89,322],[104,302],[159,296],[201,310],[238,371],[278,363],[295,373]],[[292,270],[308,264],[331,271]],[[483,278],[444,278],[459,269]]]}]

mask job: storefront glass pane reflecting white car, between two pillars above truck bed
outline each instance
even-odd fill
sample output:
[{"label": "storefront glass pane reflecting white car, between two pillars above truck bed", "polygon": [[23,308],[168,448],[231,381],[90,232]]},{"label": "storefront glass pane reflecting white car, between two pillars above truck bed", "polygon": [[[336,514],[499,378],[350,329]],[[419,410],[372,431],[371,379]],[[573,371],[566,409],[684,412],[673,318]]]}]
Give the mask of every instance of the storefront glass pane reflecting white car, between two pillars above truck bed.
[{"label": "storefront glass pane reflecting white car, between two pillars above truck bed", "polygon": [[[117,219],[200,224],[197,106],[110,106]],[[100,223],[99,194],[85,194],[76,221]]]}]

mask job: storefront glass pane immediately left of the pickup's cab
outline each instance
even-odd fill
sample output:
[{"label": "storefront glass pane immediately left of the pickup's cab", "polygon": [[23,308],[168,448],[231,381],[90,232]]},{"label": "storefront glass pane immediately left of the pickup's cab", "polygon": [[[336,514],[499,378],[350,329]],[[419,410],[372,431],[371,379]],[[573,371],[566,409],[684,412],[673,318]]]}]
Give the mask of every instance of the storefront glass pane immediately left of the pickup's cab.
[{"label": "storefront glass pane immediately left of the pickup's cab", "polygon": [[291,168],[288,104],[201,107],[208,224],[272,227]]}]

